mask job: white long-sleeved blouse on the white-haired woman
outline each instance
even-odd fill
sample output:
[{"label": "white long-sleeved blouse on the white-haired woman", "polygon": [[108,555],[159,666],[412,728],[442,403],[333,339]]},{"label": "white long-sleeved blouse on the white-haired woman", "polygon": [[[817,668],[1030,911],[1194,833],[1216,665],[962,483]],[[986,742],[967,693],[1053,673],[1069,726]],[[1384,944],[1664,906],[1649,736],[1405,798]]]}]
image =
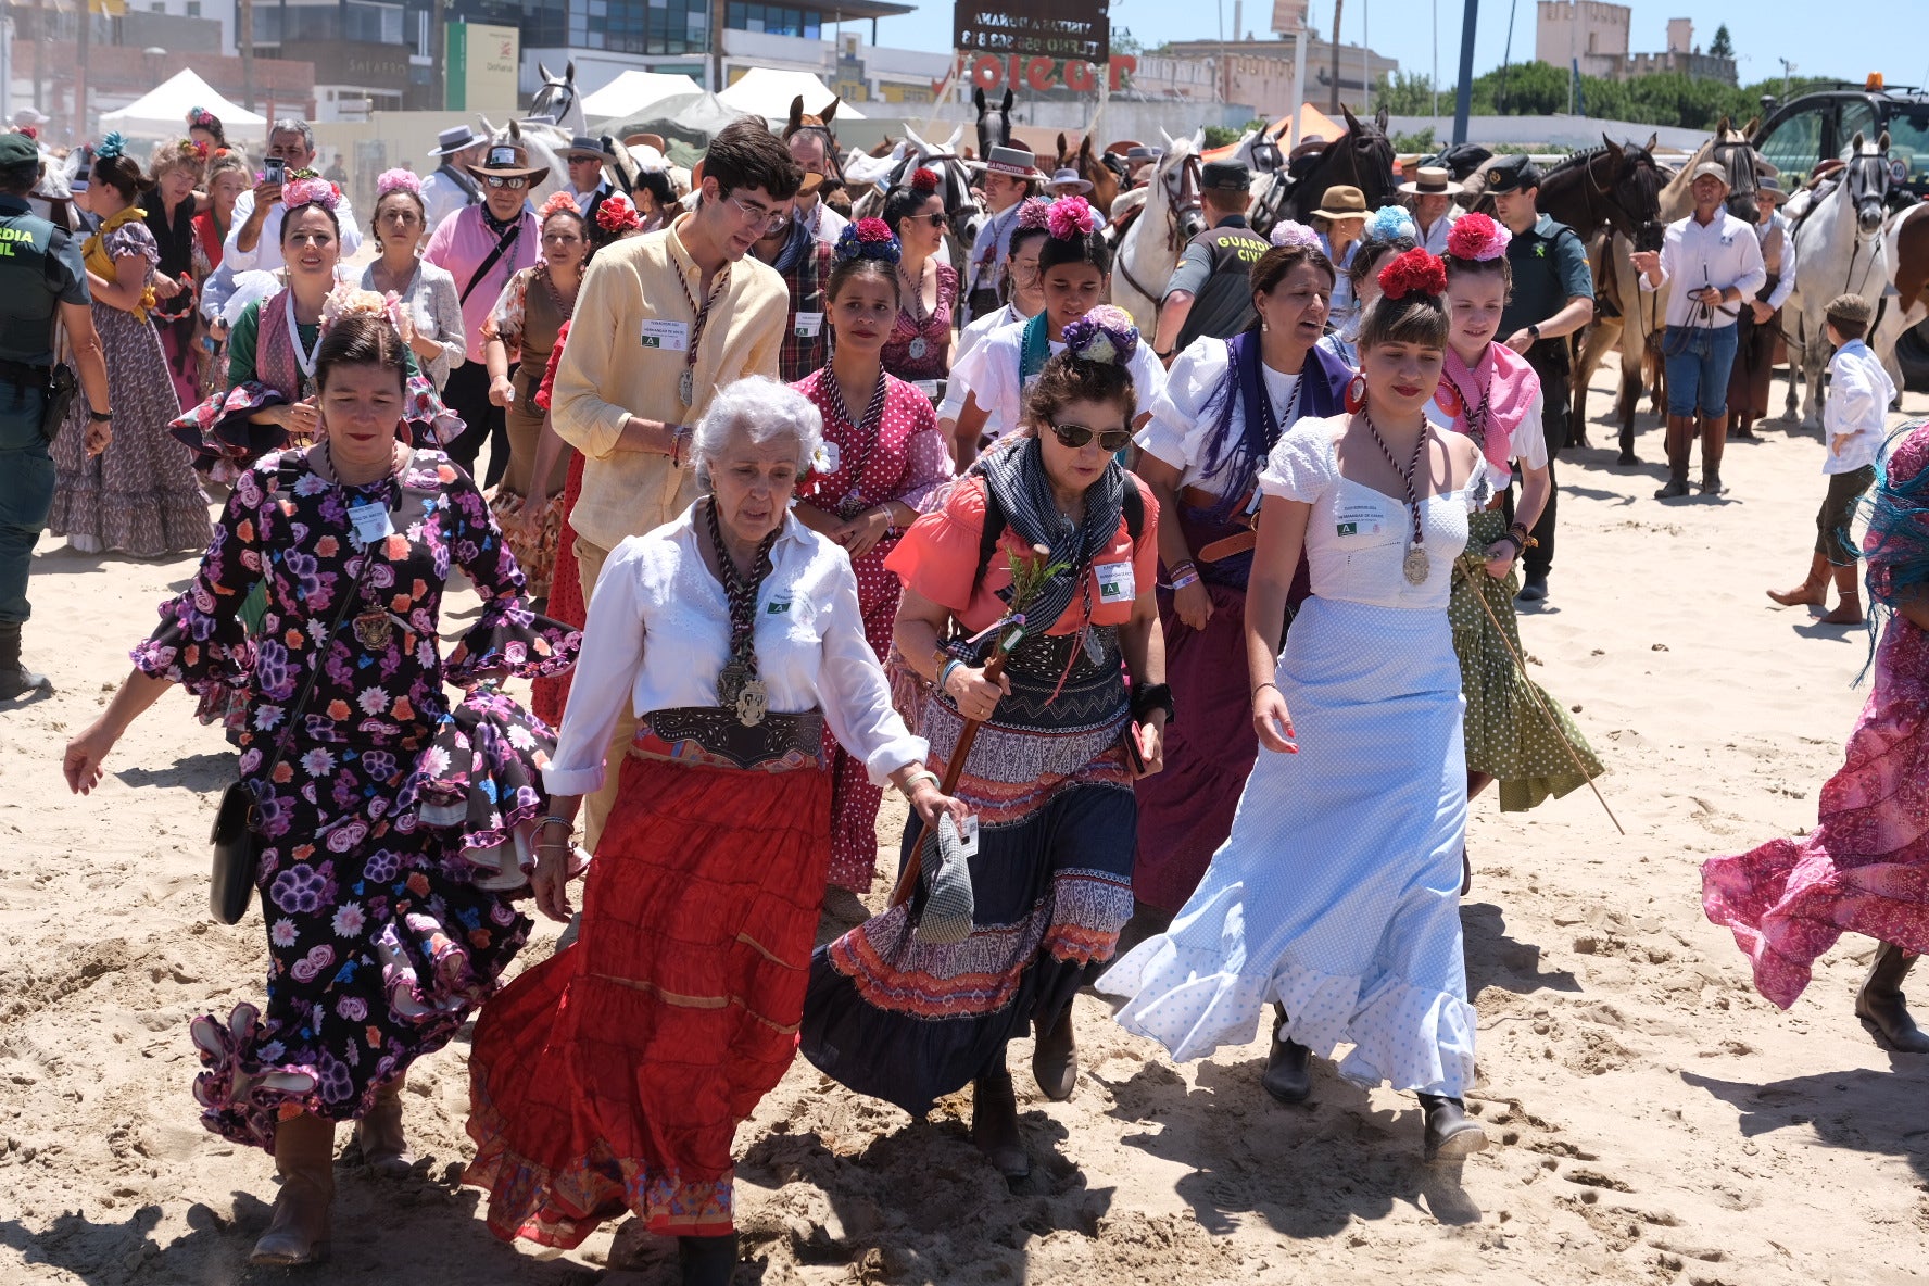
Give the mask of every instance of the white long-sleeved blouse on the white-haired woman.
[{"label": "white long-sleeved blouse on the white-haired woman", "polygon": [[[627,700],[638,717],[718,704],[718,675],[729,659],[729,600],[704,565],[696,505],[610,551],[590,596],[556,758],[542,769],[550,792],[588,794],[602,787],[619,702]],[[864,640],[849,555],[791,515],[770,559],[754,627],[756,671],[770,686],[770,710],[822,708],[831,737],[864,760],[876,785],[907,764],[922,764],[928,744],[891,708],[878,654]]]}]

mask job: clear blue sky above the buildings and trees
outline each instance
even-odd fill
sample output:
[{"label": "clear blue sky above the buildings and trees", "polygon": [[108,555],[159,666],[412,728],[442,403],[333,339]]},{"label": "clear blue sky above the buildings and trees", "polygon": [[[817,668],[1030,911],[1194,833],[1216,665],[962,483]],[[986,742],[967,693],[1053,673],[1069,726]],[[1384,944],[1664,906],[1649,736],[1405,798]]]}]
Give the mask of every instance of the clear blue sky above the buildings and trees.
[{"label": "clear blue sky above the buildings and trees", "polygon": [[[880,44],[897,48],[941,50],[951,42],[949,0],[907,0],[916,13],[887,17],[878,25]],[[1209,8],[1213,0],[1113,0],[1113,27],[1128,27],[1150,48],[1159,40],[1213,39],[1223,19],[1233,31],[1233,0],[1219,0],[1223,13]],[[1534,58],[1535,0],[1514,4],[1514,58]],[[1890,85],[1929,85],[1929,0],[1877,0],[1875,4],[1844,6],[1852,21],[1827,21],[1819,13],[1827,6],[1813,0],[1744,0],[1742,4],[1709,0],[1634,0],[1634,19],[1628,42],[1632,52],[1667,48],[1671,17],[1692,17],[1696,42],[1707,48],[1715,27],[1728,23],[1740,62],[1742,83],[1780,75],[1780,58],[1796,64],[1800,75],[1834,75],[1860,81],[1869,71],[1883,71]],[[1345,42],[1360,40],[1362,17],[1368,21],[1370,44],[1375,52],[1400,60],[1408,71],[1429,71],[1433,66],[1433,15],[1439,13],[1441,83],[1453,83],[1460,58],[1460,17],[1464,0],[1346,0],[1341,15]],[[1271,0],[1244,0],[1246,27],[1265,39],[1271,21]],[[1474,46],[1474,71],[1501,66],[1507,44],[1508,0],[1481,0],[1480,37]],[[1333,0],[1312,0],[1312,25],[1325,33],[1333,25]]]}]

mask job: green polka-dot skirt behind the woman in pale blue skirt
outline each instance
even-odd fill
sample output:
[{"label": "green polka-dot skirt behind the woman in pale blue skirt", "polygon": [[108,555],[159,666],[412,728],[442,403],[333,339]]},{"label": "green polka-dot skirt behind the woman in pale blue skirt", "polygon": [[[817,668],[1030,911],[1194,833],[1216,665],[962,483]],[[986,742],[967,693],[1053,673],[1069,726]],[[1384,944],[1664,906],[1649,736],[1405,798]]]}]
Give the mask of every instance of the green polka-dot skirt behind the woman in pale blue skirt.
[{"label": "green polka-dot skirt behind the woman in pale blue skirt", "polygon": [[[1526,657],[1514,625],[1520,576],[1508,573],[1507,580],[1495,580],[1483,565],[1487,546],[1505,534],[1507,519],[1501,511],[1468,515],[1466,553],[1454,561],[1447,619],[1453,625],[1453,650],[1460,657],[1460,690],[1466,694],[1466,767],[1501,783],[1501,812],[1524,812],[1549,794],[1561,798],[1588,785],[1588,777],[1599,777],[1601,760],[1561,702],[1537,684],[1534,690],[1541,700],[1534,700],[1508,654],[1512,644],[1512,652]],[[1481,611],[1476,596],[1485,598],[1491,617]],[[1507,632],[1505,640],[1495,630],[1495,621]],[[1549,725],[1547,713],[1553,713],[1559,729]],[[1574,767],[1576,758],[1586,775]]]}]

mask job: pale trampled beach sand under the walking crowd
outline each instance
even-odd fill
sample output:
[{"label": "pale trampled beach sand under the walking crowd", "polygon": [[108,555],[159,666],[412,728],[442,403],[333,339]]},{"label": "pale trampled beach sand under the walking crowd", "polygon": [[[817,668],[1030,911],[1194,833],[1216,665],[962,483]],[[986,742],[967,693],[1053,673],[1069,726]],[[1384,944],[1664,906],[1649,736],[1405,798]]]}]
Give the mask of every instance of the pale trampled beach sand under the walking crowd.
[{"label": "pale trampled beach sand under the walking crowd", "polygon": [[[1885,1055],[1854,1020],[1871,943],[1838,945],[1782,1014],[1699,910],[1705,856],[1813,825],[1863,700],[1850,684],[1865,634],[1763,598],[1807,567],[1823,492],[1815,438],[1775,422],[1765,438],[1728,447],[1721,501],[1655,503],[1661,470],[1617,469],[1611,449],[1561,465],[1555,596],[1520,632],[1611,767],[1603,790],[1628,835],[1588,792],[1524,816],[1476,806],[1472,1111],[1491,1151],[1429,1168],[1408,1097],[1321,1064],[1314,1103],[1283,1109],[1258,1087],[1263,1045],[1173,1066],[1082,997],[1069,1103],[1044,1101],[1030,1045],[1013,1049],[1036,1157],[1017,1190],[970,1147],[968,1103],[912,1122],[799,1062],[737,1139],[737,1280],[1915,1280],[1929,1058]],[[1642,451],[1659,457],[1655,430]],[[247,1269],[270,1161],[206,1134],[189,1095],[187,1020],[262,999],[258,910],[233,927],[206,912],[231,754],[170,694],[93,798],[58,771],[66,735],[191,569],[52,540],[35,561],[27,648],[58,690],[0,711],[6,1284],[284,1280]],[[455,629],[473,600],[457,607]],[[542,925],[527,958],[554,933]],[[1929,1008],[1929,974],[1917,993]],[[428,1157],[415,1178],[343,1161],[336,1259],[303,1280],[673,1282],[664,1247],[627,1232],[556,1255],[484,1230],[478,1193],[453,1182],[471,1151],[465,1055],[457,1041],[409,1080]]]}]

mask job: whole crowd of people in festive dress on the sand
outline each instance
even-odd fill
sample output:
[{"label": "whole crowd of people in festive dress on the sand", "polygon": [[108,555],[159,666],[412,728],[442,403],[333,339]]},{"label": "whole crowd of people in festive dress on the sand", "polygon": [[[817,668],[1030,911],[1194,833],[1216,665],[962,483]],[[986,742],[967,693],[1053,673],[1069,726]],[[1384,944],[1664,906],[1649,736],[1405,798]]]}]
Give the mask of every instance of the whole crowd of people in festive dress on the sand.
[{"label": "whole crowd of people in festive dress on the sand", "polygon": [[[1427,1159],[1487,1145],[1468,810],[1603,773],[1520,661],[1593,310],[1532,162],[1491,170],[1491,218],[1422,168],[1402,204],[1335,187],[1267,235],[1209,162],[1142,334],[1105,220],[1020,147],[982,166],[961,274],[937,175],[853,222],[814,118],[721,129],[687,191],[650,166],[625,193],[575,139],[540,206],[517,139],[451,129],[367,226],[303,121],[258,175],[189,125],[145,170],[87,152],[85,237],[33,214],[41,150],[0,135],[31,251],[0,272],[33,274],[0,299],[0,694],[37,684],[42,524],[204,549],[64,767],[91,790],[170,684],[239,750],[268,993],[193,1041],[203,1122],[282,1178],[255,1263],[326,1257],[338,1126],[405,1166],[409,1066],[473,1014],[490,1228],[569,1247],[629,1213],[698,1286],[737,1263],[735,1130],[799,1051],[912,1114],[970,1087],[1020,1178],[1007,1045],[1071,1097],[1082,987],[1181,1060],[1271,1018],[1283,1103],[1346,1045],[1341,1076],[1418,1095]],[[1696,416],[1721,490],[1723,399],[1755,378],[1732,326],[1779,303],[1763,245],[1792,270],[1773,199],[1757,231],[1719,168],[1694,189],[1638,256],[1644,287],[1707,283],[1669,305],[1667,496]],[[1833,580],[1825,619],[1863,621],[1873,492],[1875,692],[1823,825],[1711,862],[1705,902],[1780,1005],[1836,933],[1877,935],[1858,1012],[1921,1051],[1929,430],[1885,455],[1869,318],[1829,307],[1815,561],[1775,598]],[[482,613],[444,640],[459,586]],[[885,789],[909,817],[872,916]],[[511,979],[530,910],[569,929]]]}]

